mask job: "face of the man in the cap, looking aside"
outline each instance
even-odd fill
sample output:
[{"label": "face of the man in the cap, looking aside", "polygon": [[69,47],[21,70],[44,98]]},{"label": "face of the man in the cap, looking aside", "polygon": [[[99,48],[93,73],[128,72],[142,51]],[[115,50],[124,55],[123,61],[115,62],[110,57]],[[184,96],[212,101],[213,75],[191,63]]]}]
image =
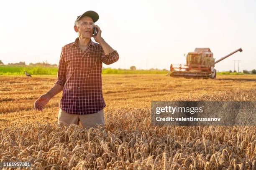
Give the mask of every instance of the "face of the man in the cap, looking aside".
[{"label": "face of the man in the cap, looking aside", "polygon": [[74,30],[78,33],[79,37],[91,38],[93,33],[94,23],[92,18],[83,17],[74,26]]}]

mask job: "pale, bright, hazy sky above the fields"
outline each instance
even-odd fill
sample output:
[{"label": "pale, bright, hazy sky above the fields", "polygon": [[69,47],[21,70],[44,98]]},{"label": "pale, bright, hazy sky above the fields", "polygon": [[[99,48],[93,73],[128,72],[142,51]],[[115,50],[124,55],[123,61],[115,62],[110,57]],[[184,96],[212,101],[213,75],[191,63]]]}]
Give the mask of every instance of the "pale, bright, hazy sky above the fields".
[{"label": "pale, bright, hazy sky above the fields", "polygon": [[[103,67],[168,69],[184,64],[195,47],[210,47],[218,71],[256,69],[255,0],[8,0],[0,1],[0,60],[58,64],[61,47],[74,42],[74,21],[96,11],[102,37],[119,53]],[[95,41],[92,38],[93,41]],[[238,62],[236,61],[238,71]]]}]

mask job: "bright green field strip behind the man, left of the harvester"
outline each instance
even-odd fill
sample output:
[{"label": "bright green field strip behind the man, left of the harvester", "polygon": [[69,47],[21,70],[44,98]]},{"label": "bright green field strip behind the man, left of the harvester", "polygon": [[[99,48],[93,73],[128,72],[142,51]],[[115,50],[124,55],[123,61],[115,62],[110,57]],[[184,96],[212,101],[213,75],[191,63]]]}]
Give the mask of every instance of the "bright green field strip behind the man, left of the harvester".
[{"label": "bright green field strip behind the man, left of the harvester", "polygon": [[[24,71],[31,75],[57,75],[57,67],[35,67],[35,66],[0,66],[0,75],[24,75]],[[103,68],[102,74],[167,74],[162,70],[125,70]]]}]

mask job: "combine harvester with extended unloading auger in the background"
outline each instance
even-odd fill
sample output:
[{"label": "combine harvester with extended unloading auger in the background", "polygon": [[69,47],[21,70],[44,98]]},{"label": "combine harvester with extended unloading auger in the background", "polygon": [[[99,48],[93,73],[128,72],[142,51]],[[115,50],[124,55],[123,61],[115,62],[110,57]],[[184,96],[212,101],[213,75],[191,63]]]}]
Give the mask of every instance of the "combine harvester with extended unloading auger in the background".
[{"label": "combine harvester with extended unloading auger in the background", "polygon": [[186,65],[184,65],[184,67],[182,67],[182,65],[173,67],[171,64],[171,72],[168,75],[172,77],[216,78],[214,65],[238,51],[242,52],[243,50],[242,48],[239,48],[225,57],[220,58],[220,60],[215,61],[210,48],[195,48],[194,52],[189,52],[187,54]]}]

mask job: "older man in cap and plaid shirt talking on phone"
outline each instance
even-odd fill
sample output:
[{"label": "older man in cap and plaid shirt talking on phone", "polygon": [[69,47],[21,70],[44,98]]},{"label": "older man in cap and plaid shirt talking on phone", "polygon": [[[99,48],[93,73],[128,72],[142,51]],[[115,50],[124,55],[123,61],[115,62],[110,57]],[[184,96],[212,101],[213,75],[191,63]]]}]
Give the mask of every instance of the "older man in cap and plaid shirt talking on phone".
[{"label": "older man in cap and plaid shirt talking on phone", "polygon": [[[74,30],[78,37],[62,47],[57,81],[34,103],[34,108],[42,111],[46,103],[63,90],[58,123],[79,125],[80,121],[83,128],[105,125],[102,62],[110,65],[119,59],[119,55],[101,37],[99,26],[94,24],[98,19],[99,15],[94,11],[87,11],[77,17]],[[98,43],[93,42],[91,37]]]}]

